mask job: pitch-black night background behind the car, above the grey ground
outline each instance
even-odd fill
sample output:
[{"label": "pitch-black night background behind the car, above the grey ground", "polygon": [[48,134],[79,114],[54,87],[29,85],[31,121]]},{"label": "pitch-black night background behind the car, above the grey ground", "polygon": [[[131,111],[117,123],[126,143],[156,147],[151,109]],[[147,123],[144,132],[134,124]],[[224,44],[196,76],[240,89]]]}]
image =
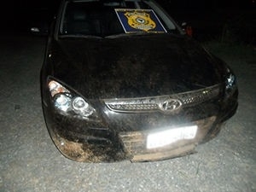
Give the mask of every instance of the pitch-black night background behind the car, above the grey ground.
[{"label": "pitch-black night background behind the car, above the grey ground", "polygon": [[[0,11],[1,32],[28,32],[30,26],[37,25],[37,22],[42,20],[49,22],[60,2],[61,0],[5,2],[1,5]],[[195,32],[205,30],[206,26],[212,27],[211,30],[214,31],[225,25],[225,22],[236,24],[240,15],[242,18],[238,19],[242,20],[243,25],[247,23],[248,25],[241,26],[239,23],[236,28],[255,28],[256,0],[160,0],[157,2],[163,5],[177,22],[189,22],[194,26]],[[209,23],[214,25],[209,26]]]}]

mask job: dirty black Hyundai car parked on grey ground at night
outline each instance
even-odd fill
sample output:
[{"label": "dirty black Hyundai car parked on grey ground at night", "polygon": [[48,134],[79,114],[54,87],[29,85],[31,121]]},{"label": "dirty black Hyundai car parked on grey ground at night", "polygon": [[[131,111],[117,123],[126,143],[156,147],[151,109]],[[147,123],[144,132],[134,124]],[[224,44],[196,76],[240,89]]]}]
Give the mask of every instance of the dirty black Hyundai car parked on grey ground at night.
[{"label": "dirty black Hyundai car parked on grey ground at night", "polygon": [[64,0],[40,81],[49,135],[79,162],[193,154],[238,106],[232,69],[153,0]]}]

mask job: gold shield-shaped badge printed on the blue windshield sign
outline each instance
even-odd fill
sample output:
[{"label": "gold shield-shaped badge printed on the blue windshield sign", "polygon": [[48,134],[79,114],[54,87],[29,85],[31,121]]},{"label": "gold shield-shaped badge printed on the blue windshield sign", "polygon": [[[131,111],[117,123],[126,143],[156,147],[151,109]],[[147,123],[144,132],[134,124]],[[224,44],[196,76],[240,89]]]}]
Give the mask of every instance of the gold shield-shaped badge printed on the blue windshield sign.
[{"label": "gold shield-shaped badge printed on the blue windshield sign", "polygon": [[128,24],[132,28],[148,32],[155,28],[154,20],[151,20],[150,15],[142,11],[126,12],[125,16],[128,19]]}]

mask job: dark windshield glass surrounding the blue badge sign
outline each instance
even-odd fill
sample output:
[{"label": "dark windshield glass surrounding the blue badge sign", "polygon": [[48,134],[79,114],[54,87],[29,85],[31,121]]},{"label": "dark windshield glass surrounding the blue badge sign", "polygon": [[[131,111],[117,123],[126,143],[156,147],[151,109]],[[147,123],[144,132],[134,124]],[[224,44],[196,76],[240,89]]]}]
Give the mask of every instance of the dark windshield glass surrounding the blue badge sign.
[{"label": "dark windshield glass surrounding the blue badge sign", "polygon": [[177,30],[172,20],[152,1],[84,0],[67,2],[61,19],[60,34],[106,37],[125,33],[124,23],[117,15],[117,9],[147,10],[148,13],[156,16],[154,20],[165,28],[166,32]]}]

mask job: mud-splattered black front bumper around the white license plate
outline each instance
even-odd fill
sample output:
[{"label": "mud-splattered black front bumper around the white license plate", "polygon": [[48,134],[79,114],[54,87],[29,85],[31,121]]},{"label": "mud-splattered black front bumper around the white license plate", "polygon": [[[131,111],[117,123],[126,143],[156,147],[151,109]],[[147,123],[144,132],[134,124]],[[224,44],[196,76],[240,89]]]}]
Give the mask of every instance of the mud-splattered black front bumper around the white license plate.
[{"label": "mud-splattered black front bumper around the white license plate", "polygon": [[[183,114],[182,119],[180,117],[177,118],[177,116],[175,116],[176,119],[168,119],[165,124],[170,129],[183,127],[184,125],[196,125],[196,135],[190,139],[178,139],[160,148],[147,148],[148,135],[154,131],[160,131],[160,129],[144,129],[142,128],[142,122],[139,122],[140,119],[144,122],[149,122],[152,114],[136,115],[136,117],[139,117],[133,119],[134,122],[132,122],[132,118],[125,119],[126,114],[120,114],[120,116],[124,116],[118,120],[115,119],[113,122],[85,123],[83,120],[68,119],[44,104],[43,108],[49,134],[55,146],[60,150],[61,154],[70,160],[80,162],[153,161],[192,154],[199,143],[215,137],[220,131],[224,120],[236,113],[237,94],[234,94],[234,97],[220,105],[222,108],[217,107],[217,101],[207,102],[205,106],[201,105],[201,113],[195,114],[195,110],[192,110],[190,113]],[[209,108],[212,108],[212,112],[205,113],[206,111],[209,112],[209,110],[204,109]],[[105,110],[108,110],[107,107]],[[108,118],[111,119],[111,115],[113,114],[108,114]],[[154,120],[166,120],[166,117],[160,119],[162,114],[158,116],[155,113],[154,115]],[[150,118],[148,118],[149,116]],[[186,122],[181,123],[184,122],[184,119],[186,119]],[[127,120],[127,125],[122,124]],[[154,120],[152,120],[151,125],[155,124]],[[111,125],[116,129],[111,128]],[[117,129],[118,125],[119,129]],[[150,127],[160,126],[154,125]]]}]

